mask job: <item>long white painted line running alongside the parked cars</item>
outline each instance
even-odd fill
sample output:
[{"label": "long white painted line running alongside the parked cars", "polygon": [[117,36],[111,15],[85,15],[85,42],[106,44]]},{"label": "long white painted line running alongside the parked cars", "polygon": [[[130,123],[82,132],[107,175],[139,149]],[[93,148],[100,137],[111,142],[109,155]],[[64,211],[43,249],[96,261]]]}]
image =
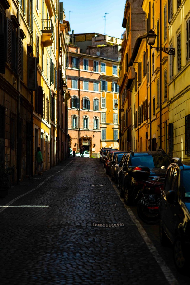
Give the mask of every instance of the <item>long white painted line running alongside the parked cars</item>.
[{"label": "long white painted line running alongside the parked cars", "polygon": [[[111,181],[111,178],[108,176],[109,180]],[[117,189],[117,187],[113,184],[113,182],[111,181],[111,184],[113,186],[113,188],[115,189],[117,195],[120,198],[120,193],[119,190]],[[158,253],[156,247],[153,245],[152,241],[150,240],[150,238],[148,237],[146,231],[143,229],[142,225],[140,224],[140,222],[136,219],[135,215],[133,214],[133,212],[131,211],[130,207],[126,206],[124,201],[120,198],[120,200],[122,201],[122,203],[124,204],[125,209],[128,211],[128,214],[130,215],[131,220],[135,223],[140,235],[142,236],[142,238],[144,239],[148,249],[150,250],[150,252],[152,253],[152,255],[154,256],[156,262],[158,263],[158,265],[160,266],[162,272],[164,273],[164,276],[166,277],[168,283],[170,285],[179,285],[177,279],[175,278],[175,276],[173,275],[173,273],[171,272],[171,270],[169,269],[169,267],[166,265],[166,263],[164,262],[164,260],[162,259],[162,257],[160,256],[160,254]]]}]

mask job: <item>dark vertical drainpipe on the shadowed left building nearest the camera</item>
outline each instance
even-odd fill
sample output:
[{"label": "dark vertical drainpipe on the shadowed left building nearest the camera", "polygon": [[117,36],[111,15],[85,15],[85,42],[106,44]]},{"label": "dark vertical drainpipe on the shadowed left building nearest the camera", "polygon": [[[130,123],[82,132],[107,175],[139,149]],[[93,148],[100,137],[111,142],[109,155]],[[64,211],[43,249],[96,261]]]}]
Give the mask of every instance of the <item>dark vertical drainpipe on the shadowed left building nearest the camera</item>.
[{"label": "dark vertical drainpipe on the shadowed left building nearest the camera", "polygon": [[[20,3],[19,9],[17,10],[17,20],[20,23]],[[20,35],[20,26],[17,28],[17,40]],[[18,101],[17,101],[17,184],[20,184],[20,168],[21,168],[21,152],[19,152],[19,146],[21,140],[19,138],[20,135],[20,76],[17,78],[17,90],[19,91]]]}]

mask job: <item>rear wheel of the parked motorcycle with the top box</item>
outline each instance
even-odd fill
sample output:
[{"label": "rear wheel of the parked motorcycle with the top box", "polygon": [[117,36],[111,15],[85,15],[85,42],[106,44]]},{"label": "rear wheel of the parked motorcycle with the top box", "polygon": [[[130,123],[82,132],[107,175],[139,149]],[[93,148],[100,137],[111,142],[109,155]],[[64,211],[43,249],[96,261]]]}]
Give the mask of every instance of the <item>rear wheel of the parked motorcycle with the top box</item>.
[{"label": "rear wheel of the parked motorcycle with the top box", "polygon": [[158,210],[150,210],[147,207],[137,205],[137,214],[141,221],[146,224],[156,224],[160,221],[160,214]]}]

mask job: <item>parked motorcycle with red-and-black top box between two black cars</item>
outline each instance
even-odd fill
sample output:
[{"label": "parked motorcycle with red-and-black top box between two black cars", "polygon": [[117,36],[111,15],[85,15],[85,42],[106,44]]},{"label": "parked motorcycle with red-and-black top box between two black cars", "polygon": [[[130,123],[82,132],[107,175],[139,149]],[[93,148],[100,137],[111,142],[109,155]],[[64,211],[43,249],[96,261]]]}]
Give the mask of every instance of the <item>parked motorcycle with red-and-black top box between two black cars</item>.
[{"label": "parked motorcycle with red-and-black top box between two black cars", "polygon": [[[133,172],[136,173],[133,174]],[[133,201],[137,203],[137,214],[143,222],[158,223],[160,220],[158,208],[164,183],[148,180],[147,175],[144,176],[146,180],[143,180],[143,173],[144,171],[140,167],[136,167],[132,171],[132,182],[135,184]]]}]

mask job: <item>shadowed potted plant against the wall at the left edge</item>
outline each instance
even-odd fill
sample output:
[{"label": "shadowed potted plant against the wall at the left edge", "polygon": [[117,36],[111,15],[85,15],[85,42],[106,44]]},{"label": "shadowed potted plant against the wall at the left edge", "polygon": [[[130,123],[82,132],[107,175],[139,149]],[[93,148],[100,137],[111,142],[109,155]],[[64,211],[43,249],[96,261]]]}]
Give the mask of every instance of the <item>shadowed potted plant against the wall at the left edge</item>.
[{"label": "shadowed potted plant against the wall at the left edge", "polygon": [[9,176],[14,167],[6,167],[3,162],[0,162],[0,197],[4,198],[9,190]]}]

